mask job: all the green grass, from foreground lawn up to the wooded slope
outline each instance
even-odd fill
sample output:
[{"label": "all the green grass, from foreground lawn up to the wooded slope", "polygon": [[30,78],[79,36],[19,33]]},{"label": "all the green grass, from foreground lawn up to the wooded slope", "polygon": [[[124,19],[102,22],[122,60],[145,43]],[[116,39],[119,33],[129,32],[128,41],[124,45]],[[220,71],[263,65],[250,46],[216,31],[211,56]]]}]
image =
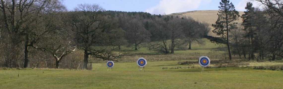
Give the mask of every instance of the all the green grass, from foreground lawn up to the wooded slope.
[{"label": "all the green grass, from foreground lawn up to the wooded slope", "polygon": [[[187,89],[187,88],[232,88],[232,89],[282,89],[283,71],[253,69],[254,66],[283,65],[277,61],[232,61],[244,64],[240,67],[219,68],[225,61],[226,52],[219,51],[219,45],[203,39],[205,45],[193,44],[193,50],[176,50],[174,54],[156,54],[147,48],[131,50],[134,55],[114,62],[113,71],[107,71],[106,61],[95,61],[93,70],[67,69],[0,69],[0,89]],[[221,48],[220,48],[221,49]],[[210,68],[196,63],[200,56],[211,60]],[[147,59],[147,65],[138,72],[136,61],[139,57]],[[219,61],[220,60],[220,61]],[[222,60],[222,61],[221,61]],[[223,62],[224,60],[224,62]],[[191,61],[190,64],[178,64]],[[218,63],[216,63],[218,61]],[[241,60],[240,60],[241,61]],[[215,62],[215,63],[213,63]],[[282,66],[281,66],[282,68]],[[143,72],[145,71],[145,72]]]}]

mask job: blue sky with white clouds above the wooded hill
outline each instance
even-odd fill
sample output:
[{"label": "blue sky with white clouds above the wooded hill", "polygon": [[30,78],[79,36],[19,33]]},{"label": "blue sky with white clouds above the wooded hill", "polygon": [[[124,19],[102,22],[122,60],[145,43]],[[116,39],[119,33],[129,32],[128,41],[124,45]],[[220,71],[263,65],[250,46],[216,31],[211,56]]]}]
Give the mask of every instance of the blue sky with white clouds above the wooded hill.
[{"label": "blue sky with white clouds above the wooded hill", "polygon": [[[218,10],[221,0],[64,0],[69,11],[78,4],[98,4],[105,10],[125,12],[148,12],[150,14],[172,14],[194,10]],[[245,11],[246,2],[250,0],[230,0],[238,11]],[[258,3],[252,2],[254,7]]]}]

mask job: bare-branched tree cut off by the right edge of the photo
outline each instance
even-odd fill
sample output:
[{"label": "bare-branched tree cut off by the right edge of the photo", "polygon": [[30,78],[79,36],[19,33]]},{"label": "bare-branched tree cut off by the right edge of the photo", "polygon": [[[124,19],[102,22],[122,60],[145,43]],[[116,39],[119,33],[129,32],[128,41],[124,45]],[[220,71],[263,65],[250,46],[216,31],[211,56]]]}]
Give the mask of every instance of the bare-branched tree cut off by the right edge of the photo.
[{"label": "bare-branched tree cut off by the right edge of the photo", "polygon": [[271,54],[271,60],[276,56],[283,57],[283,1],[281,0],[254,0],[264,6],[263,14],[267,19],[266,32],[269,34],[268,41],[265,43],[266,50]]}]

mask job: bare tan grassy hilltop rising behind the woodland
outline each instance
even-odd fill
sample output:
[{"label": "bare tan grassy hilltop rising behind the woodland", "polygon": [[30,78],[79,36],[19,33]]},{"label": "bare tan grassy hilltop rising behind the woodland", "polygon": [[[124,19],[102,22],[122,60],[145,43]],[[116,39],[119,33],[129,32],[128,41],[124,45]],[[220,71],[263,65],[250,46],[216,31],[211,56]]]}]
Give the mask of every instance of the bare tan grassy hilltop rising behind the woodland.
[{"label": "bare tan grassy hilltop rising behind the woodland", "polygon": [[[188,12],[180,12],[180,13],[173,13],[169,15],[178,15],[180,17],[192,17],[194,20],[199,22],[206,22],[210,25],[215,24],[215,21],[217,20],[218,10],[198,10],[198,11],[188,11]],[[239,15],[241,16],[244,14],[244,12],[239,11]],[[238,21],[238,26],[240,26],[243,22],[242,18],[240,17]],[[211,30],[213,30],[213,27],[211,26]],[[209,35],[213,35],[212,31]]]}]

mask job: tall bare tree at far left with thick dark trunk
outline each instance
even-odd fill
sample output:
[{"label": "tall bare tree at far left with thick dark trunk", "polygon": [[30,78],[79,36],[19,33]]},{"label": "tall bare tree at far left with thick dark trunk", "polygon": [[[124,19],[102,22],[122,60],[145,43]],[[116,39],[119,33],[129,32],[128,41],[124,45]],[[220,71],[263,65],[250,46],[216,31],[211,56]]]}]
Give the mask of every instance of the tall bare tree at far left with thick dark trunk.
[{"label": "tall bare tree at far left with thick dark trunk", "polygon": [[[10,35],[12,44],[24,42],[24,68],[29,67],[29,47],[42,49],[35,44],[53,30],[42,28],[44,15],[65,10],[59,0],[1,0],[5,31]],[[46,25],[47,26],[47,25]]]}]

